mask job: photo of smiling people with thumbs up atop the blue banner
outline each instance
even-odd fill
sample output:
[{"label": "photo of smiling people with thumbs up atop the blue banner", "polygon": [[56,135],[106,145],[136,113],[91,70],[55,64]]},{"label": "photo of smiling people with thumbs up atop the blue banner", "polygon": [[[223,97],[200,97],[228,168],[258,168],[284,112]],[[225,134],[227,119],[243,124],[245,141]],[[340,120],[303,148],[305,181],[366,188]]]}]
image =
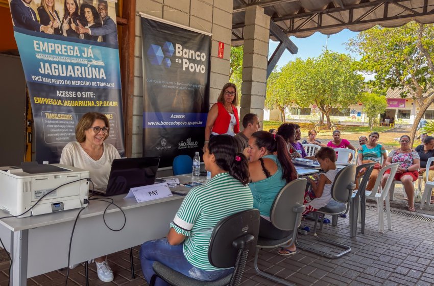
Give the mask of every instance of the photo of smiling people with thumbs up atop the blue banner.
[{"label": "photo of smiling people with thumbs up atop the blue banner", "polygon": [[117,45],[114,2],[10,0],[9,4],[17,28]]}]

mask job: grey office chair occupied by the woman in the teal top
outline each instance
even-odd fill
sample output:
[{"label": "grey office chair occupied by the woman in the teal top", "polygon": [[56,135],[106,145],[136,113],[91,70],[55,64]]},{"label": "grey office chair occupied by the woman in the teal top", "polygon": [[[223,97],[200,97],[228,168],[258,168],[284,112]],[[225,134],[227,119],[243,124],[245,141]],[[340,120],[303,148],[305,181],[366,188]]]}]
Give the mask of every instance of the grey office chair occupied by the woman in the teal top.
[{"label": "grey office chair occupied by the woman in the teal top", "polygon": [[301,214],[306,208],[303,205],[304,190],[306,188],[307,180],[300,178],[287,183],[277,194],[274,199],[273,205],[270,210],[270,220],[274,227],[280,230],[292,231],[288,236],[279,240],[266,239],[264,237],[258,237],[256,244],[256,253],[254,266],[256,273],[259,276],[266,277],[275,282],[284,285],[293,285],[283,279],[279,279],[271,274],[260,271],[258,268],[258,256],[260,248],[275,248],[278,246],[293,245],[297,239],[298,227],[301,224]]}]

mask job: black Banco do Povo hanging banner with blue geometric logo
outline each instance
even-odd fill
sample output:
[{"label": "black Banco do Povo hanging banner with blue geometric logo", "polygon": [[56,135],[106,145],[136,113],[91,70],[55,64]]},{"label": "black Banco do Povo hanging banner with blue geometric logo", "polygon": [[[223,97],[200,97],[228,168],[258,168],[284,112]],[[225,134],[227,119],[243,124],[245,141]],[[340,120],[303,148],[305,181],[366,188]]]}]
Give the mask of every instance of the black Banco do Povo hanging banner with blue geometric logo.
[{"label": "black Banco do Povo hanging banner with blue geometric logo", "polygon": [[142,14],[143,156],[160,167],[202,149],[209,110],[211,37],[174,25]]}]

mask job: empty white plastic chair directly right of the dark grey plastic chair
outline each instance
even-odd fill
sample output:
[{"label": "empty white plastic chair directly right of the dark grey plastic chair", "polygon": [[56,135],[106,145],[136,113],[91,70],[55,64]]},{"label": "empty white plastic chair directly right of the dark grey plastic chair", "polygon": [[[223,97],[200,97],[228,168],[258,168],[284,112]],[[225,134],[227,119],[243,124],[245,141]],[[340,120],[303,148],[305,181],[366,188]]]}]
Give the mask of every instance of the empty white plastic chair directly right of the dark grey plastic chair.
[{"label": "empty white plastic chair directly right of the dark grey plastic chair", "polygon": [[[377,180],[375,181],[375,185],[372,188],[372,191],[366,190],[366,198],[375,200],[377,202],[377,210],[378,210],[378,230],[380,232],[384,232],[384,213],[383,213],[383,201],[386,205],[386,215],[388,219],[388,229],[392,230],[392,219],[390,217],[390,201],[389,201],[389,190],[392,185],[393,178],[395,177],[396,170],[398,169],[399,163],[390,164],[388,166],[384,166],[381,169],[380,173],[378,173]],[[381,178],[384,175],[386,170],[390,169],[390,175],[388,180],[386,181],[384,188],[381,187]],[[380,191],[379,193],[377,191]]]}]

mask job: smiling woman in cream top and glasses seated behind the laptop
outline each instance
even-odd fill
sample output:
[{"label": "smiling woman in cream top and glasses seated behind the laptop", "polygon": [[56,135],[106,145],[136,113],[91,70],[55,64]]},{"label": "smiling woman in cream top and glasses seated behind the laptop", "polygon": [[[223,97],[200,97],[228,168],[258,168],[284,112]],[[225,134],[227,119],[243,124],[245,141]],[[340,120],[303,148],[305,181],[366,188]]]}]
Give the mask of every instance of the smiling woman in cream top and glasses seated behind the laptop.
[{"label": "smiling woman in cream top and glasses seated behind the laptop", "polygon": [[[75,166],[90,172],[94,186],[107,185],[111,163],[119,159],[116,148],[108,143],[110,129],[104,114],[88,112],[81,117],[76,126],[76,142],[69,142],[62,150],[60,163]],[[113,281],[113,272],[107,264],[105,256],[95,258],[98,278],[104,282]],[[72,267],[71,267],[72,268]]]}]

